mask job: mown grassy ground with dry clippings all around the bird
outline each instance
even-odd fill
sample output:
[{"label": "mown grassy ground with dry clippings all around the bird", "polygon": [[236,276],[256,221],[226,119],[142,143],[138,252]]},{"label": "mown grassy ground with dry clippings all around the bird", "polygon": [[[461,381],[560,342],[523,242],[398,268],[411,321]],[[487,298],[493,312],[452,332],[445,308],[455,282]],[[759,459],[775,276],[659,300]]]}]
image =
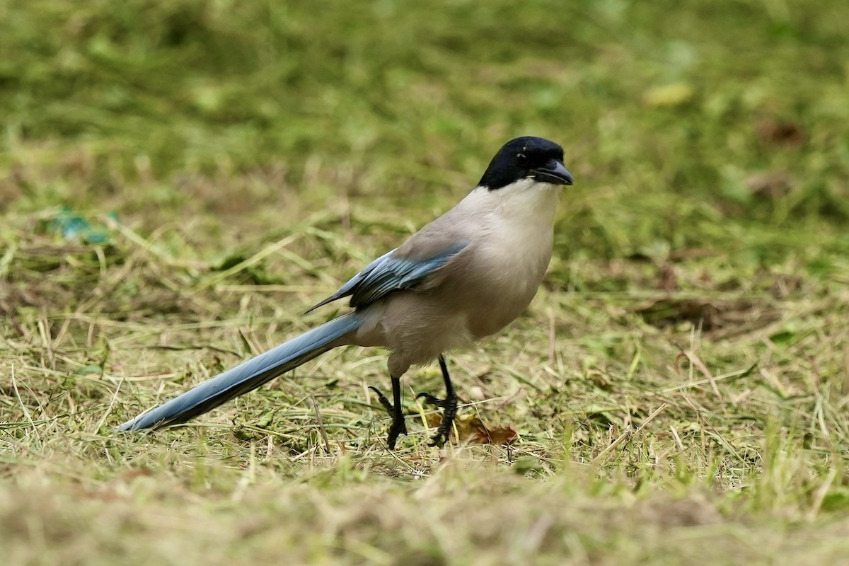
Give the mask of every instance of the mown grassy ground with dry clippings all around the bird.
[{"label": "mown grassy ground with dry clippings all around the bird", "polygon": [[[4,563],[849,563],[844,3],[0,3]],[[516,135],[530,310],[384,448],[379,350],[111,427],[301,316]]]}]

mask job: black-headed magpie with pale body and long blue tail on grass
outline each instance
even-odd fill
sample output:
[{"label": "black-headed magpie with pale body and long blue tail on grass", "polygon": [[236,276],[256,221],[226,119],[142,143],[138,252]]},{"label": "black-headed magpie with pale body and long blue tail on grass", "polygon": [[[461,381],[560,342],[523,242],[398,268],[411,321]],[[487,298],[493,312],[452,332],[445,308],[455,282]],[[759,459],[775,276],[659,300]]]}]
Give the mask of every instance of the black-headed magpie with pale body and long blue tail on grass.
[{"label": "black-headed magpie with pale body and long blue tail on grass", "polygon": [[438,398],[423,392],[417,398],[441,407],[441,423],[430,446],[443,446],[458,410],[445,355],[498,333],[531,303],[551,260],[560,188],[572,183],[557,143],[531,136],[510,140],[457,205],[306,312],[346,298],[352,311],[117,429],[185,423],[333,348],[381,346],[390,351],[392,401],[380,389],[370,389],[391,417],[387,446],[395,450],[398,437],[408,434],[402,376],[410,367],[434,360],[439,362],[446,394]]}]

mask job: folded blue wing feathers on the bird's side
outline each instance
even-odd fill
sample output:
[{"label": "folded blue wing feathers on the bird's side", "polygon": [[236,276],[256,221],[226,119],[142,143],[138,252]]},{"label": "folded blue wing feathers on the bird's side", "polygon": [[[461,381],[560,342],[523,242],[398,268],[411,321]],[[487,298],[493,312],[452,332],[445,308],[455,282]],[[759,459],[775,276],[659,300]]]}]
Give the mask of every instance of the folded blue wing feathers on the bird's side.
[{"label": "folded blue wing feathers on the bird's side", "polygon": [[397,257],[395,255],[397,249],[393,249],[369,263],[362,272],[351,277],[338,291],[306,312],[349,296],[351,297],[350,304],[354,308],[371,305],[375,300],[385,297],[392,291],[410,289],[422,283],[425,278],[447,264],[454,255],[457,255],[465,247],[466,244],[464,243],[455,244],[439,254],[417,260]]}]

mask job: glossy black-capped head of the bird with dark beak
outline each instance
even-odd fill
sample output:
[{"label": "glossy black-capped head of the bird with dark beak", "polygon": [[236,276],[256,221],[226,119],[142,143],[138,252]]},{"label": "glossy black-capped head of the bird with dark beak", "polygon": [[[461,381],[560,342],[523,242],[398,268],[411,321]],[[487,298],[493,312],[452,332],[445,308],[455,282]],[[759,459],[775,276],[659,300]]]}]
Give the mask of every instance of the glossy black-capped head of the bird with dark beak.
[{"label": "glossy black-capped head of the bird with dark beak", "polygon": [[498,150],[478,187],[494,191],[524,179],[571,185],[572,175],[563,165],[563,148],[542,137],[516,137]]}]

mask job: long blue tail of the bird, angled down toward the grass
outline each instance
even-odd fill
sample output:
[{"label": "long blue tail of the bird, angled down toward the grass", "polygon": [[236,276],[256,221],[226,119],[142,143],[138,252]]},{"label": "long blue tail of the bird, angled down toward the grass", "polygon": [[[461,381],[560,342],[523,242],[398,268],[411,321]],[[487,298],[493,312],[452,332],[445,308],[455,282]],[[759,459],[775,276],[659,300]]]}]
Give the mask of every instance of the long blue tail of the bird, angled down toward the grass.
[{"label": "long blue tail of the bird, angled down toward the grass", "polygon": [[185,423],[323,354],[333,347],[335,340],[356,330],[362,323],[355,313],[335,318],[189,389],[122,424],[118,430],[158,429]]}]

